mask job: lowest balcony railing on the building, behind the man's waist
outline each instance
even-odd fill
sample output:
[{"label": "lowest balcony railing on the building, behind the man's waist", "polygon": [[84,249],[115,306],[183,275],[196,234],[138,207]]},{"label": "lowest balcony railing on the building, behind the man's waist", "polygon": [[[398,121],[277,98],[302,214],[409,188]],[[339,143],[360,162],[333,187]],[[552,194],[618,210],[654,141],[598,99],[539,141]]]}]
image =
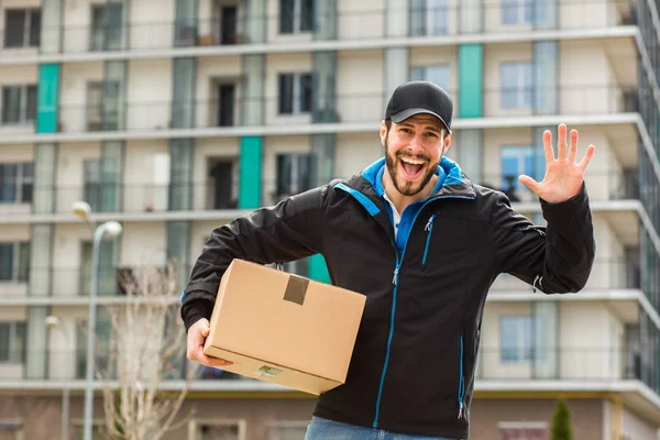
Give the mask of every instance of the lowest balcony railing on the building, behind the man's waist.
[{"label": "lowest balcony railing on the building, behind the man's waist", "polygon": [[[183,323],[176,322],[182,326]],[[45,375],[30,377],[26,360],[40,360]],[[16,362],[0,362],[2,380],[43,380],[61,382],[85,378],[85,350],[55,349],[20,352],[12,355]],[[103,378],[117,378],[119,358],[98,352],[96,366]],[[186,360],[185,354],[164,362],[163,381],[179,381],[190,376],[196,381],[256,381],[218,369],[209,369]],[[640,352],[625,346],[560,346],[539,349],[534,345],[502,346],[482,345],[477,355],[477,381],[572,381],[584,383],[613,381],[642,381],[652,388],[660,386],[653,381],[660,365]]]}]

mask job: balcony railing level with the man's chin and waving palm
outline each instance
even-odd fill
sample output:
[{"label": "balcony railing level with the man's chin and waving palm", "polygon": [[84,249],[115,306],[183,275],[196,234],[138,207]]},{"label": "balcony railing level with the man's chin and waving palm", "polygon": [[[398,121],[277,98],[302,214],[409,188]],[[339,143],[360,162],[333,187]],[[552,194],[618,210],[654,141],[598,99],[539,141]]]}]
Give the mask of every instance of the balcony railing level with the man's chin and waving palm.
[{"label": "balcony railing level with the man's chin and waving palm", "polygon": [[[631,150],[634,148],[631,147]],[[366,164],[361,166],[364,165]],[[360,167],[356,166],[353,172],[359,173]],[[526,173],[530,172],[527,170]],[[194,174],[207,173],[195,172]],[[532,177],[535,176],[532,175]],[[542,179],[542,176],[536,177],[539,180]],[[283,180],[289,182],[293,178]],[[275,205],[287,196],[312,187],[312,180],[309,176],[297,182],[299,182],[298,186],[292,184],[290,187],[283,188],[278,185],[278,180],[273,178],[263,179],[261,204],[263,206]],[[518,174],[486,174],[481,178],[475,178],[474,183],[502,190],[513,202],[538,202],[538,198],[518,182]],[[640,197],[636,170],[590,169],[586,174],[586,185],[591,201],[638,200]],[[213,179],[176,184],[61,185],[45,188],[36,185],[34,191],[41,198],[55,200],[55,213],[70,213],[72,204],[78,200],[87,201],[96,213],[152,215],[172,211],[200,212],[241,208],[239,200],[240,183],[233,177],[230,178],[230,184],[227,185],[217,185]],[[25,216],[31,211],[30,204],[21,204],[21,209],[16,209],[16,206],[0,204],[0,218]]]}]

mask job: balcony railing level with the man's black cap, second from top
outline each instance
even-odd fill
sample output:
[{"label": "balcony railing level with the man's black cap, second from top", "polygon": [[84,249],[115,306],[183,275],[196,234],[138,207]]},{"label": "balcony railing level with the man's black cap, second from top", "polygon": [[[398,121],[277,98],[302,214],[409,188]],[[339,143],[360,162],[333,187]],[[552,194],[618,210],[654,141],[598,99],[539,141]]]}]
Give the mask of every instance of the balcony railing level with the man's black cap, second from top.
[{"label": "balcony railing level with the man's black cap, second from top", "polygon": [[[449,94],[461,102],[457,90]],[[484,116],[520,117],[535,114],[616,114],[638,111],[637,89],[617,85],[562,85],[559,87],[488,88],[484,90]],[[289,99],[290,98],[290,99]],[[383,92],[339,96],[277,96],[226,101],[204,99],[178,101],[129,101],[103,111],[88,103],[59,109],[58,131],[154,132],[175,129],[231,127],[282,127],[314,123],[374,123],[383,119],[387,97]],[[90,114],[99,114],[91,118]],[[101,116],[102,114],[102,116]]]}]

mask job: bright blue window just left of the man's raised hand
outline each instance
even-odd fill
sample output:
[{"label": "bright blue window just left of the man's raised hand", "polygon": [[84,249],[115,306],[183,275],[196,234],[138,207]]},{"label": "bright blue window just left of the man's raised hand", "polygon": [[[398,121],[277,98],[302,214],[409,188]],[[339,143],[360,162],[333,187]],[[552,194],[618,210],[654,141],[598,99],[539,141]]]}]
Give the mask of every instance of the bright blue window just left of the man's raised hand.
[{"label": "bright blue window just left of the man's raised hand", "polygon": [[499,153],[502,182],[501,190],[512,201],[519,201],[516,191],[522,186],[518,176],[526,174],[537,182],[543,179],[546,158],[541,147],[534,146],[503,146]]}]

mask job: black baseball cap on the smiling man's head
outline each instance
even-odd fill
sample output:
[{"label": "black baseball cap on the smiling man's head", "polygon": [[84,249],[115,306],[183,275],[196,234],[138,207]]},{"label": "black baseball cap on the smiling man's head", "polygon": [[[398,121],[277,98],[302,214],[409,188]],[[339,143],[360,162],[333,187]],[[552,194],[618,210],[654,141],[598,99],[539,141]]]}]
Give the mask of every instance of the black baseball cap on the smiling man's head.
[{"label": "black baseball cap on the smiling man's head", "polygon": [[452,112],[453,102],[442,87],[431,81],[408,81],[398,86],[392,94],[385,110],[385,120],[399,123],[415,114],[432,114],[451,133]]}]

